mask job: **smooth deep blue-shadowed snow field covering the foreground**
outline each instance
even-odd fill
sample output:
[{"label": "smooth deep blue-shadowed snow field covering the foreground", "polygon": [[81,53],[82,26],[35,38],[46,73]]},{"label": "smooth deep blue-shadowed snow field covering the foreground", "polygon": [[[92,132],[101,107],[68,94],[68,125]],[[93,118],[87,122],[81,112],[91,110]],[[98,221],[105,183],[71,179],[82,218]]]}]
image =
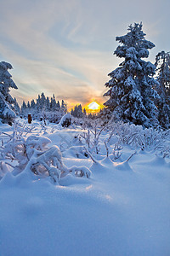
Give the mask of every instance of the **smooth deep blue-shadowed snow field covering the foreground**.
[{"label": "smooth deep blue-shadowed snow field covering the foreground", "polygon": [[[54,124],[45,131],[38,122],[33,125],[23,137],[48,137],[48,146],[60,148],[67,168],[85,166],[91,176],[69,173],[52,183],[50,177],[28,168],[14,175],[2,161],[12,166],[16,161],[0,159],[0,256],[170,255],[168,157],[154,146],[141,150],[122,143],[122,155],[116,160],[114,133],[107,157],[104,141],[110,131],[102,131],[99,154],[89,148],[94,162],[84,155],[84,139],[77,136],[86,131]],[[0,125],[5,133],[0,134],[0,143],[3,140],[4,145],[13,130]]]}]

